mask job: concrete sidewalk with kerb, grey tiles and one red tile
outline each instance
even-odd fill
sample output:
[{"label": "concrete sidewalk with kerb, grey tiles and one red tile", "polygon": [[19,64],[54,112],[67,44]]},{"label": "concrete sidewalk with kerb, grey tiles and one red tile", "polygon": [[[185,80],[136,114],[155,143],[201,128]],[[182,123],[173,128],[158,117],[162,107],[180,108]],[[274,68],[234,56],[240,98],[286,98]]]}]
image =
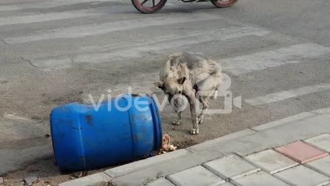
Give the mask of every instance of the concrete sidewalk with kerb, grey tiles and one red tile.
[{"label": "concrete sidewalk with kerb, grey tiles and one red tile", "polygon": [[327,185],[330,108],[93,174],[67,185]]}]

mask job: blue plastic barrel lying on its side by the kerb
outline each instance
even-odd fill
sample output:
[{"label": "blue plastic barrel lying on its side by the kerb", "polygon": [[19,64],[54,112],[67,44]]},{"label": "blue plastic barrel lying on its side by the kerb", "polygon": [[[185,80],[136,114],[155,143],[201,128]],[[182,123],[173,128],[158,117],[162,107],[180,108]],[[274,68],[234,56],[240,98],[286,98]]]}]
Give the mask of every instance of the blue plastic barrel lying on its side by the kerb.
[{"label": "blue plastic barrel lying on its side by the kerb", "polygon": [[[96,101],[97,102],[97,101]],[[88,170],[136,160],[162,145],[162,125],[152,96],[124,94],[93,105],[69,103],[50,115],[56,163]]]}]

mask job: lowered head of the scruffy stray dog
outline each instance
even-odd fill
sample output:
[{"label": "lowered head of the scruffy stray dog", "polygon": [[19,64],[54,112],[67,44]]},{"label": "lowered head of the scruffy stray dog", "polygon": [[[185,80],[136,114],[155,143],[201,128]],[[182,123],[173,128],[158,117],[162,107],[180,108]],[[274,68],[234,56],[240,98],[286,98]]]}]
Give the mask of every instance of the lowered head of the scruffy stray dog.
[{"label": "lowered head of the scruffy stray dog", "polygon": [[162,82],[155,83],[155,85],[162,89],[167,95],[168,102],[170,102],[170,104],[173,103],[175,111],[178,111],[177,109],[181,108],[182,105],[181,95],[183,93],[184,81],[186,81],[186,77],[181,77],[179,79],[168,78]]}]

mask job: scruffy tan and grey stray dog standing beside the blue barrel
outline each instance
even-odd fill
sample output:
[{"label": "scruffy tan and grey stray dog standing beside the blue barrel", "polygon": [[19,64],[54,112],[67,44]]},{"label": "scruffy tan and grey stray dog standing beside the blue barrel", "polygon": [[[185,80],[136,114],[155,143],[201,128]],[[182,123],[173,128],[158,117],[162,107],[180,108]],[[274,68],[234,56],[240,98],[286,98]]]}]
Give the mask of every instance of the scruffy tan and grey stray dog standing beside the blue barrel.
[{"label": "scruffy tan and grey stray dog standing beside the blue barrel", "polygon": [[[198,124],[203,122],[204,114],[208,110],[208,99],[217,97],[217,90],[221,85],[221,66],[216,61],[201,54],[188,52],[168,56],[159,72],[160,82],[155,83],[173,103],[178,118],[173,125],[181,124],[181,96],[186,96],[190,104],[192,118],[191,134],[199,134]],[[173,99],[173,100],[172,100]],[[196,115],[196,100],[203,105],[201,114]]]}]

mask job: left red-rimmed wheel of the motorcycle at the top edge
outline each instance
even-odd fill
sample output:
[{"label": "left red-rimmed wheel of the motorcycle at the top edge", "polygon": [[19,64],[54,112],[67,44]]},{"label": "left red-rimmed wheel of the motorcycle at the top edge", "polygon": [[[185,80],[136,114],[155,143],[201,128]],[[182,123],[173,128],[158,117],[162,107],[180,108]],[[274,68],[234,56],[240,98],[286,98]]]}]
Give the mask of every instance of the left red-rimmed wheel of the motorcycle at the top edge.
[{"label": "left red-rimmed wheel of the motorcycle at the top edge", "polygon": [[167,0],[131,0],[133,6],[144,14],[155,13],[162,9]]}]

